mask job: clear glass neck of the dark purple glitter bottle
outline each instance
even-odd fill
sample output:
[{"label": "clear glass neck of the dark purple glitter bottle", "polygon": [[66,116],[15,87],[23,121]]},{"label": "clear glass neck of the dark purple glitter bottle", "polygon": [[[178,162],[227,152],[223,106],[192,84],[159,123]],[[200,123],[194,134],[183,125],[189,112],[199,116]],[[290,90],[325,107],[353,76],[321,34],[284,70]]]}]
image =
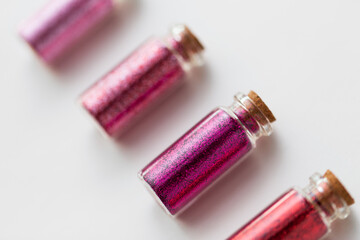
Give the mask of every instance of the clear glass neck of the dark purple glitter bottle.
[{"label": "clear glass neck of the dark purple glitter bottle", "polygon": [[[264,106],[266,107],[265,104]],[[262,136],[271,135],[271,120],[261,106],[250,97],[250,94],[236,94],[233,104],[228,109],[236,116],[254,142]]]}]

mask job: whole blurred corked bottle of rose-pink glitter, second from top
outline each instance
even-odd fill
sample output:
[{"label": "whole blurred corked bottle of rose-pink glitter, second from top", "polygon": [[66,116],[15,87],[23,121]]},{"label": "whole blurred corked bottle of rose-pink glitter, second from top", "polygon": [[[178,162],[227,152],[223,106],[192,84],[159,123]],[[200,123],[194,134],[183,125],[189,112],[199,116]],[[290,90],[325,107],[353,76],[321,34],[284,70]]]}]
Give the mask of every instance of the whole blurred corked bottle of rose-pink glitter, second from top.
[{"label": "whole blurred corked bottle of rose-pink glitter, second from top", "polygon": [[118,136],[184,82],[202,63],[202,44],[185,25],[152,38],[91,86],[82,106],[109,136]]}]

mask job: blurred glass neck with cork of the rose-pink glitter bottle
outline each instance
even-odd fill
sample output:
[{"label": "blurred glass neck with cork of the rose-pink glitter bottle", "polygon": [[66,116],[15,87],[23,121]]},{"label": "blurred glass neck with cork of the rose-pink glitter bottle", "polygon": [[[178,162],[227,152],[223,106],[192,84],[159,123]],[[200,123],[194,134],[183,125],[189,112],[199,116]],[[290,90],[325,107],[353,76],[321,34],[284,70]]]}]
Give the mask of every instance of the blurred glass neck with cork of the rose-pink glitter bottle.
[{"label": "blurred glass neck with cork of the rose-pink glitter bottle", "polygon": [[187,26],[175,25],[164,41],[185,70],[203,64],[204,47]]}]

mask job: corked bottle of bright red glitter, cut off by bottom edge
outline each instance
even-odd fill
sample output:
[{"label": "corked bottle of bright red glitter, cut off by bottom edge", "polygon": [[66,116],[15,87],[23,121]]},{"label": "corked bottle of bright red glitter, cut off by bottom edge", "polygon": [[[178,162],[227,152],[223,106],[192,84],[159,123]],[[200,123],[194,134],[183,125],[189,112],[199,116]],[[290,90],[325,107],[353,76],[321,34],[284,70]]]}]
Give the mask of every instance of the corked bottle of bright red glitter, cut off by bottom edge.
[{"label": "corked bottle of bright red glitter, cut off by bottom edge", "polygon": [[229,240],[318,240],[349,215],[353,198],[331,172],[315,173],[304,189],[292,188]]}]

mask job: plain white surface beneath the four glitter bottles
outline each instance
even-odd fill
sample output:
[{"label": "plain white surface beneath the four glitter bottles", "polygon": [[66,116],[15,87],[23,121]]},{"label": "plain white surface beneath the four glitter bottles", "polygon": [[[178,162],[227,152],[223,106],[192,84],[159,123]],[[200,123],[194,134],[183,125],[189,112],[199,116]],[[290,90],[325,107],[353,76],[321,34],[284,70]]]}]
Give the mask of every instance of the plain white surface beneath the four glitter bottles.
[{"label": "plain white surface beneath the four glitter bottles", "polygon": [[[138,0],[56,71],[17,37],[45,0],[2,0],[0,239],[224,239],[331,169],[360,201],[360,2]],[[206,66],[116,143],[77,96],[152,34],[187,23]],[[137,172],[200,118],[253,89],[274,135],[177,219]],[[327,239],[360,239],[360,204]]]}]

